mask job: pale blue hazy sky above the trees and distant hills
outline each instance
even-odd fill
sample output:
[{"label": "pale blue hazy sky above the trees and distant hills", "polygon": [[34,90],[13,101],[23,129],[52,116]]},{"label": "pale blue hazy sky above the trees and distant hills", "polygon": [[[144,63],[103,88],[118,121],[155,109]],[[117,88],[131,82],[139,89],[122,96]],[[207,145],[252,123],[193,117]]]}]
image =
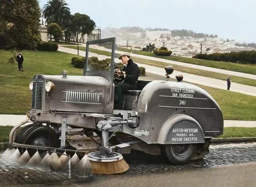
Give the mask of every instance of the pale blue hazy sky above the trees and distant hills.
[{"label": "pale blue hazy sky above the trees and distant hills", "polygon": [[[39,0],[42,8],[47,0]],[[96,26],[189,29],[256,43],[256,0],[66,0]]]}]

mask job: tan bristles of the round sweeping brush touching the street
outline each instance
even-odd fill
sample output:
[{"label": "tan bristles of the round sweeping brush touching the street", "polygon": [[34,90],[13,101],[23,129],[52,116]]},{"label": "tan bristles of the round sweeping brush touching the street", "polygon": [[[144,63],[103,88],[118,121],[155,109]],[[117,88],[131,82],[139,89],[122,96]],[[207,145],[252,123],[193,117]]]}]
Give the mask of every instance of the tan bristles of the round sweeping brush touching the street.
[{"label": "tan bristles of the round sweeping brush touching the street", "polygon": [[95,162],[90,160],[90,163],[94,174],[116,174],[123,173],[129,169],[129,165],[124,159],[114,162]]}]

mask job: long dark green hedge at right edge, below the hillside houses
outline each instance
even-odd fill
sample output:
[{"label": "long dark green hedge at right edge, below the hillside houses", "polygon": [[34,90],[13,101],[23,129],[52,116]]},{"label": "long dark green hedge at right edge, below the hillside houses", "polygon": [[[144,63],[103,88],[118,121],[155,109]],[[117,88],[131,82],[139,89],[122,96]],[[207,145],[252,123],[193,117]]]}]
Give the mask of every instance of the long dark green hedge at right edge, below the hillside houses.
[{"label": "long dark green hedge at right edge, below the hillside houses", "polygon": [[256,51],[241,51],[231,53],[196,54],[192,58],[204,60],[256,64]]}]

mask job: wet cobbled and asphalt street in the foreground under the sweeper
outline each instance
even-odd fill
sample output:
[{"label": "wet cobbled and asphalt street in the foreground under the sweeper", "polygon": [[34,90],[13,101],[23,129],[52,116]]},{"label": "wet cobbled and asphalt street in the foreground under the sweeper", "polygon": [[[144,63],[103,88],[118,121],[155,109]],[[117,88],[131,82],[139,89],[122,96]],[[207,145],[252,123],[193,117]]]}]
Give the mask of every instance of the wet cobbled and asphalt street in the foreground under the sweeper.
[{"label": "wet cobbled and asphalt street in the foreground under the sweeper", "polygon": [[212,144],[201,160],[175,166],[163,156],[142,152],[123,155],[130,169],[123,174],[94,175],[72,169],[40,171],[0,159],[0,186],[54,187],[255,187],[256,143]]}]

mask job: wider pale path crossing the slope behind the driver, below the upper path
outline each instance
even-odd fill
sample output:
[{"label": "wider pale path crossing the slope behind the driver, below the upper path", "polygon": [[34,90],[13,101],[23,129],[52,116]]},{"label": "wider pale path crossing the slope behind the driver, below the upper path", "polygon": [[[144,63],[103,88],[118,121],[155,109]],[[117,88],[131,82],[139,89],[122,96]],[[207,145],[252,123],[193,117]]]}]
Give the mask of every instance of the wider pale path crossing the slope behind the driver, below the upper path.
[{"label": "wider pale path crossing the slope behind the driver, below the upper path", "polygon": [[[76,49],[65,48],[65,47],[62,47],[62,46],[59,46],[58,51],[65,52],[65,53],[77,54]],[[79,55],[85,56],[85,51],[79,50]],[[99,59],[109,58],[105,55],[99,55],[99,54],[96,54],[96,53],[90,53],[89,52],[89,57],[92,57],[92,56],[96,56]],[[146,56],[143,56],[143,57],[146,57]],[[118,58],[115,58],[115,62],[119,62],[119,61],[120,60],[118,60]],[[140,64],[140,63],[137,63],[137,64],[138,64],[138,66],[145,67],[146,72],[161,75],[161,76],[164,76],[164,74],[165,74],[165,71],[164,71],[163,68],[155,67],[155,66],[149,66],[149,65]],[[226,90],[226,81],[222,81],[222,80],[219,80],[219,79],[214,79],[214,78],[210,78],[210,77],[202,77],[202,76],[189,74],[189,73],[184,73],[184,72],[178,72],[178,71],[174,71],[170,77],[175,79],[175,76],[179,75],[179,74],[183,75],[183,77],[184,77],[183,80],[184,81]],[[232,82],[231,83],[231,91],[243,93],[243,94],[246,94],[246,95],[256,96],[256,87],[255,86],[247,86],[247,85]]]}]

